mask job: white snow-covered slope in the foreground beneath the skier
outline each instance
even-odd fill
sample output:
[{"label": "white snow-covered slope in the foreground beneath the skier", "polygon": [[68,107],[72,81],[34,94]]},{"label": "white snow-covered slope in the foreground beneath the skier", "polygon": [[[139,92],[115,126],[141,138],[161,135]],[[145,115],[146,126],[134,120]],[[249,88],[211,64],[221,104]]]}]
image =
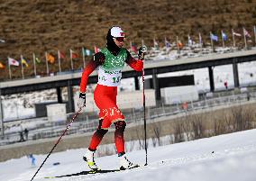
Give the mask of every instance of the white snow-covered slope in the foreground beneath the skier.
[{"label": "white snow-covered slope in the foreground beneath the skier", "polygon": [[[158,148],[151,147],[148,150],[149,165],[147,167],[138,167],[118,173],[44,178],[44,176],[75,174],[88,169],[82,160],[86,149],[71,149],[51,154],[34,180],[255,181],[255,136],[256,130],[240,131]],[[140,165],[145,163],[144,150],[134,150],[127,155],[133,162]],[[31,167],[26,157],[0,163],[0,180],[31,180],[46,155],[36,155],[35,158],[37,158],[37,167]],[[60,164],[53,166],[56,162]],[[118,167],[116,155],[96,158],[96,162],[102,169]]]}]

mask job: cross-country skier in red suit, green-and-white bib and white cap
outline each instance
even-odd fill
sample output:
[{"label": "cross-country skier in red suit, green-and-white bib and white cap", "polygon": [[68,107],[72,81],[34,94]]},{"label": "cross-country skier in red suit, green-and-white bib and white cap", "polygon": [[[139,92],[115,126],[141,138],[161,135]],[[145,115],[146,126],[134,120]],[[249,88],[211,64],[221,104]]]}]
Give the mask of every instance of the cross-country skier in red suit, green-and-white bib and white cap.
[{"label": "cross-country skier in red suit, green-and-white bib and white cap", "polygon": [[87,64],[83,71],[80,83],[80,94],[78,108],[86,105],[87,80],[89,75],[98,67],[98,82],[94,92],[96,106],[99,108],[99,125],[92,136],[87,153],[83,157],[88,167],[97,170],[95,152],[100,141],[112,123],[114,123],[114,142],[118,157],[120,158],[120,169],[137,167],[129,161],[124,151],[123,131],[125,119],[123,113],[116,105],[117,86],[121,84],[122,69],[127,63],[136,71],[142,71],[146,46],[139,49],[139,59],[133,59],[130,52],[123,48],[125,40],[124,32],[120,27],[114,26],[107,32],[106,47],[97,52],[93,59]]}]

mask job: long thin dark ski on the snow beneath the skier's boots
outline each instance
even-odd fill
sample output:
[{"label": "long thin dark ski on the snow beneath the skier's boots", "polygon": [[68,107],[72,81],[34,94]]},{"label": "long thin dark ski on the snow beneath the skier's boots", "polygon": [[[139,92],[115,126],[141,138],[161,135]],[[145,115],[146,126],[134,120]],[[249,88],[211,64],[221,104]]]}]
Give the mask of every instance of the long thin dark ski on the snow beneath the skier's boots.
[{"label": "long thin dark ski on the snow beneath the skier's boots", "polygon": [[[140,166],[131,167],[129,169],[133,169],[136,167],[140,167]],[[122,170],[122,169],[87,170],[87,171],[82,171],[82,172],[78,172],[75,174],[68,174],[68,175],[62,175],[62,176],[44,176],[44,178],[59,178],[59,177],[68,177],[68,176],[85,176],[85,175],[94,175],[94,174],[106,174],[106,173],[111,173],[111,172],[120,172],[120,171],[124,171],[124,170]]]}]

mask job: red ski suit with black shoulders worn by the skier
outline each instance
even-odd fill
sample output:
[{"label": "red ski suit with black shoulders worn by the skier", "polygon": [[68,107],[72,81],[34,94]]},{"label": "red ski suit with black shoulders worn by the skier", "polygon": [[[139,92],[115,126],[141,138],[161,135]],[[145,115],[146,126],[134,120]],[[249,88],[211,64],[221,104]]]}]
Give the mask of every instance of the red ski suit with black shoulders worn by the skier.
[{"label": "red ski suit with black shoulders worn by the skier", "polygon": [[[87,91],[87,81],[89,75],[100,65],[103,65],[105,62],[105,55],[101,52],[96,53],[94,59],[90,60],[87,64],[87,67],[84,69],[81,83],[80,83],[80,92],[85,93]],[[143,61],[138,59],[133,59],[129,51],[127,50],[127,59],[125,62],[134,70],[142,71],[143,68]],[[96,106],[100,110],[99,113],[99,120],[100,122],[100,129],[107,130],[111,123],[123,121],[124,116],[123,113],[120,111],[116,104],[116,95],[117,95],[117,86],[103,86],[97,84],[95,92],[94,92],[94,100]],[[96,150],[96,147],[102,140],[104,135],[100,135],[100,133],[95,133],[92,137],[89,149]],[[124,140],[123,140],[123,133],[116,133],[114,134],[115,138],[115,145],[117,152],[124,152]]]}]

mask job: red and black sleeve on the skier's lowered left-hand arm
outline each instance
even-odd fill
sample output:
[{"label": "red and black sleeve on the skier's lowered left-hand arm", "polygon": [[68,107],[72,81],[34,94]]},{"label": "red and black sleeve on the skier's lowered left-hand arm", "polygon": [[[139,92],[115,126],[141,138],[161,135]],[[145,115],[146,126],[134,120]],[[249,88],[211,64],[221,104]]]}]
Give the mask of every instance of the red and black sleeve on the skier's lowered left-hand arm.
[{"label": "red and black sleeve on the skier's lowered left-hand arm", "polygon": [[80,82],[80,93],[87,91],[87,82],[90,74],[105,61],[105,55],[102,52],[96,53],[93,58],[88,62],[87,67],[84,69],[81,82]]}]

